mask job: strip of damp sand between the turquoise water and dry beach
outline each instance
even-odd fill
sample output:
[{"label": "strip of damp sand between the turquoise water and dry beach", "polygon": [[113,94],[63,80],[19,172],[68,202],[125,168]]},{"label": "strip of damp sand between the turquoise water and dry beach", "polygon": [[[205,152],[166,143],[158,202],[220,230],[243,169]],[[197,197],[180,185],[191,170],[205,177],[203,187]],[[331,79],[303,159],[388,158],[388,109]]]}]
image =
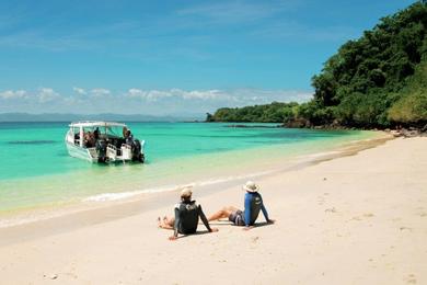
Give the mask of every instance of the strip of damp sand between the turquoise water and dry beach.
[{"label": "strip of damp sand between the turquoise water and dry beach", "polygon": [[[235,187],[246,180],[266,179],[315,166],[337,158],[355,156],[360,151],[378,147],[394,139],[388,134],[380,133],[376,137],[356,141],[347,141],[339,148],[327,152],[314,152],[298,157],[297,161],[285,167],[273,168],[264,172],[250,173],[232,178],[220,178],[217,181],[196,181],[184,183],[178,187],[163,187],[163,191],[147,193],[145,191],[103,193],[91,196],[83,202],[59,207],[43,207],[36,210],[22,210],[0,216],[0,247],[15,241],[28,240],[66,232],[109,220],[138,215],[148,210],[165,207],[176,203],[176,193],[185,185],[194,186],[201,197],[222,192],[223,189]],[[105,195],[123,195],[123,198],[103,201]],[[92,200],[101,197],[100,201]],[[84,220],[84,223],[82,223]],[[36,230],[35,230],[36,229]]]}]

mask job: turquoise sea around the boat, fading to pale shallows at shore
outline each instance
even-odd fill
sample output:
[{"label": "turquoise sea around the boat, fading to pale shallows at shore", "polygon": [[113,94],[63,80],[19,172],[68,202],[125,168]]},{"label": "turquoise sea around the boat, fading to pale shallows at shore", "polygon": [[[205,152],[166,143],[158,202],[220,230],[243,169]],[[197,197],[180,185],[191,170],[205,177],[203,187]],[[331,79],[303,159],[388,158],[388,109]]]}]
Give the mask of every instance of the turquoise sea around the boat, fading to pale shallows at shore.
[{"label": "turquoise sea around the boat, fading to pale shallows at shore", "polygon": [[[0,213],[211,180],[239,174],[245,167],[261,171],[264,162],[279,163],[292,153],[324,151],[372,136],[369,132],[235,128],[230,124],[127,125],[135,137],[147,141],[145,164],[99,166],[69,157],[64,144],[68,123],[0,123]],[[251,168],[254,162],[257,168]]]}]

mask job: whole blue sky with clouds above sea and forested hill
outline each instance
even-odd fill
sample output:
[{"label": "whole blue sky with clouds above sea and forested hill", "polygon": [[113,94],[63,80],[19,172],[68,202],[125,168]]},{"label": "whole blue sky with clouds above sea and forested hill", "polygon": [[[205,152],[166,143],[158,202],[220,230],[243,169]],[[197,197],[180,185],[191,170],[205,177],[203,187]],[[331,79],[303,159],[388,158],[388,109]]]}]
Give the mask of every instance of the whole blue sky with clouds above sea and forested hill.
[{"label": "whole blue sky with clouds above sea and forested hill", "polygon": [[305,102],[406,0],[1,0],[0,113],[193,115]]}]

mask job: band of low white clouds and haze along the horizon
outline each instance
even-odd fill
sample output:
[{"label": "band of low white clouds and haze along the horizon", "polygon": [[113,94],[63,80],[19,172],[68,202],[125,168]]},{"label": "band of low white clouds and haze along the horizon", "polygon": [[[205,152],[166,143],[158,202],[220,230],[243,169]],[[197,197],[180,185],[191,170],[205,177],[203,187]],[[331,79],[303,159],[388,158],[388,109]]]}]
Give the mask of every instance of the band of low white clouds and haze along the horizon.
[{"label": "band of low white clouds and haze along the horizon", "polygon": [[143,111],[151,115],[195,114],[215,112],[219,107],[241,107],[276,102],[307,102],[312,91],[262,89],[208,89],[208,90],[143,90],[128,89],[113,92],[108,89],[72,88],[76,94],[67,95],[51,88],[33,91],[7,90],[0,92],[0,110],[8,112],[58,112],[131,114]]}]

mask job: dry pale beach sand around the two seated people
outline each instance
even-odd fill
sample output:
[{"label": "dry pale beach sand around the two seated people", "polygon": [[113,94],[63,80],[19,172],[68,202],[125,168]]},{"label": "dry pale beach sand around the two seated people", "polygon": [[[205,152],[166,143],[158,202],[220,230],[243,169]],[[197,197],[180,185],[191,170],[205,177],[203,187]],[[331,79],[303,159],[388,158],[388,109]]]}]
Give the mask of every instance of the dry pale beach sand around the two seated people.
[{"label": "dry pale beach sand around the two seated people", "polygon": [[[277,221],[250,231],[200,224],[169,241],[155,219],[173,205],[85,225],[88,212],[60,232],[5,229],[0,284],[427,284],[426,170],[427,138],[400,138],[262,179]],[[207,214],[243,204],[239,187],[195,198]]]}]

